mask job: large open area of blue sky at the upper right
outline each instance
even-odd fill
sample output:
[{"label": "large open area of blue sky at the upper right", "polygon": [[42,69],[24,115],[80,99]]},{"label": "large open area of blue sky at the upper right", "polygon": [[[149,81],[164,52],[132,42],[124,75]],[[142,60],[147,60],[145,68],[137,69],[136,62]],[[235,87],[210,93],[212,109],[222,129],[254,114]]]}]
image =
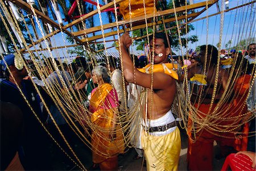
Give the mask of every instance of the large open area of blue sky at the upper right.
[{"label": "large open area of blue sky at the upper right", "polygon": [[[194,2],[197,3],[201,1],[194,1]],[[242,5],[247,2],[251,2],[251,1],[229,1],[229,9]],[[221,7],[221,1],[218,2],[218,5]],[[217,12],[217,7],[216,5],[213,5],[212,7],[209,8],[208,15],[214,14],[216,12]],[[197,18],[206,16],[206,14],[207,12],[204,12]],[[233,47],[239,41],[243,39],[247,39],[249,37],[250,32],[253,35],[253,37],[255,37],[255,24],[252,23],[253,15],[255,20],[255,4],[253,8],[251,6],[246,6],[236,10],[225,12],[221,48],[225,48],[225,44],[228,43],[229,40],[232,40],[231,47]],[[221,18],[220,15],[212,16],[209,18],[208,34],[207,34],[207,19],[192,23],[193,26],[196,27],[196,29],[194,31],[189,32],[189,35],[199,36],[199,41],[197,43],[190,44],[190,47],[195,49],[197,45],[206,44],[207,35],[208,35],[208,44],[213,44],[216,46],[216,44],[220,40],[220,23],[221,23],[220,18]],[[251,31],[250,31],[250,28],[251,28]]]}]

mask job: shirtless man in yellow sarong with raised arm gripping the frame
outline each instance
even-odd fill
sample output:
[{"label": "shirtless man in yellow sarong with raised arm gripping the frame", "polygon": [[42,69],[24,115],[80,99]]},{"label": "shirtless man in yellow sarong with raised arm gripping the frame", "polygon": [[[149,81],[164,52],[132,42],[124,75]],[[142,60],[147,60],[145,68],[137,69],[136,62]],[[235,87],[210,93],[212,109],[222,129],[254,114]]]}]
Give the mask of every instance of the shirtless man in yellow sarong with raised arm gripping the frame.
[{"label": "shirtless man in yellow sarong with raised arm gripping the frame", "polygon": [[[131,61],[128,53],[131,45],[129,34],[122,35],[120,41],[126,81],[148,89],[147,111],[151,110],[151,112],[146,113],[146,107],[144,107],[144,131],[142,131],[142,147],[146,155],[147,170],[177,170],[181,148],[180,131],[171,112],[172,102],[176,94],[175,79],[165,71],[154,72],[153,93],[151,94],[151,72],[142,73],[137,69],[134,70],[133,61]],[[151,53],[153,51],[152,45],[151,39]],[[155,34],[154,46],[154,64],[158,64],[158,66],[154,65],[154,68],[162,67],[163,69],[170,54],[166,35]],[[171,73],[175,73],[175,71],[171,70]],[[134,74],[136,82],[134,81]],[[151,99],[153,100],[152,103]]]}]

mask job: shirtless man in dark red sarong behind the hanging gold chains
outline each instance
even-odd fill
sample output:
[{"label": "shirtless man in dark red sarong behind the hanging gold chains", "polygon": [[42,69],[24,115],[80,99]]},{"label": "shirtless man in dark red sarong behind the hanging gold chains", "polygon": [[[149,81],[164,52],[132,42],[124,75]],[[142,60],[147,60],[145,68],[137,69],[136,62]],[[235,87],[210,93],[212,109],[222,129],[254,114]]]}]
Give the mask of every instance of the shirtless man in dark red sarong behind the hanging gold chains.
[{"label": "shirtless man in dark red sarong behind the hanging gold chains", "polygon": [[[204,126],[203,119],[207,118],[208,115],[211,115],[214,111],[214,108],[217,106],[217,102],[220,100],[222,93],[225,90],[226,82],[228,80],[228,73],[224,69],[220,69],[218,73],[218,80],[217,80],[217,91],[216,95],[214,97],[212,110],[209,111],[210,108],[210,102],[212,101],[212,95],[213,95],[213,89],[214,89],[214,82],[216,77],[216,69],[217,69],[217,62],[218,62],[218,51],[217,48],[208,45],[208,53],[206,54],[206,45],[202,45],[200,47],[200,63],[201,65],[197,65],[193,70],[188,71],[188,77],[192,77],[194,74],[205,74],[207,81],[207,85],[194,85],[191,96],[192,104],[195,104],[195,107],[198,108],[199,112],[197,112],[197,118],[200,118],[201,120],[194,120],[194,123],[192,124],[192,120],[189,119],[188,121],[188,153],[187,153],[187,161],[188,161],[188,170],[212,170],[212,158],[213,158],[213,141],[217,140],[221,144],[232,144],[234,140],[232,139],[225,139],[222,138],[220,135],[220,132],[214,132],[209,129],[211,126]],[[207,59],[207,60],[205,60]],[[205,65],[206,62],[206,65]],[[204,73],[204,66],[207,68],[206,72]],[[202,91],[201,98],[199,98],[199,94]],[[228,105],[229,103],[224,104],[220,110],[224,109],[225,105]],[[223,110],[225,111],[225,110]],[[223,115],[223,112],[221,113]],[[226,111],[225,117],[228,117],[230,114],[228,111]],[[201,122],[201,123],[200,123]],[[221,124],[228,124],[222,122],[222,120],[218,120],[218,118],[210,118],[208,122],[216,123],[214,126],[220,126]],[[206,123],[207,124],[207,123]],[[201,130],[200,130],[201,129]],[[199,131],[200,130],[200,131]],[[192,131],[195,131],[194,133]],[[198,132],[199,131],[199,132]],[[214,132],[215,134],[212,134]],[[225,136],[232,136],[227,135],[229,133],[225,133]],[[192,139],[195,139],[196,135],[196,141],[193,142]],[[220,144],[220,145],[221,145]]]}]

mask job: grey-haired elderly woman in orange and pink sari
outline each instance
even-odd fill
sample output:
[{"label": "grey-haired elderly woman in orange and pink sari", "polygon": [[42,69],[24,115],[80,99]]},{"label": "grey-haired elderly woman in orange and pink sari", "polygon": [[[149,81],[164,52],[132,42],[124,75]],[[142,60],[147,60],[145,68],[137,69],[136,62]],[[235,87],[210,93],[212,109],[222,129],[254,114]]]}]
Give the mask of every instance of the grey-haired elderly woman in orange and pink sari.
[{"label": "grey-haired elderly woman in orange and pink sari", "polygon": [[124,151],[124,141],[117,124],[117,92],[109,84],[110,78],[104,66],[92,70],[92,79],[98,87],[92,90],[89,110],[92,112],[93,162],[101,170],[117,170],[119,153]]}]

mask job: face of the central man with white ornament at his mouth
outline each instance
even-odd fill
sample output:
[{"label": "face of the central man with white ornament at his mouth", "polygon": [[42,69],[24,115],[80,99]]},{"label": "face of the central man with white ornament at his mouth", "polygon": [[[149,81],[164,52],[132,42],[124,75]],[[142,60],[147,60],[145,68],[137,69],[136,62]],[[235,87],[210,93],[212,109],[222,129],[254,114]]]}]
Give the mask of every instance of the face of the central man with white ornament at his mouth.
[{"label": "face of the central man with white ornament at his mouth", "polygon": [[[153,42],[150,41],[150,53],[153,54]],[[167,57],[170,53],[170,49],[164,47],[163,39],[155,39],[155,48],[154,48],[154,63],[161,64],[167,62]]]}]

